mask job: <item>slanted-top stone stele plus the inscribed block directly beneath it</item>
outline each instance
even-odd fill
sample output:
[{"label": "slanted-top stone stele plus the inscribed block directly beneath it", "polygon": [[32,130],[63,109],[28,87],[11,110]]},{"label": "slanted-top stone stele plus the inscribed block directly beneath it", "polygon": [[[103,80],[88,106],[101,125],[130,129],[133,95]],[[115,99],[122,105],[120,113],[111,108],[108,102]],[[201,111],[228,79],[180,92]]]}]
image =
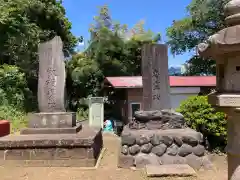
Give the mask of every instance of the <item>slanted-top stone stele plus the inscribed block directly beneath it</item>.
[{"label": "slanted-top stone stele plus the inscribed block directly beneath it", "polygon": [[76,113],[65,110],[66,72],[61,38],[56,36],[40,44],[38,56],[38,107],[40,112],[29,115],[28,128],[76,127]]}]

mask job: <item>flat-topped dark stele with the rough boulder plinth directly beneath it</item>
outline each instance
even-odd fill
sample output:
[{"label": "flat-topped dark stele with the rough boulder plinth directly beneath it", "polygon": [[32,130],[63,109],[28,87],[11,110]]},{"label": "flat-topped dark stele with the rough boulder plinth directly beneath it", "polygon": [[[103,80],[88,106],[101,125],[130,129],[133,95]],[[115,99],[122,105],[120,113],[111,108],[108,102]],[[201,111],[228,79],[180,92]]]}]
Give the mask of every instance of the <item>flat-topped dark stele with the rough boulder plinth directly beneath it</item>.
[{"label": "flat-topped dark stele with the rough boulder plinth directly beneath it", "polygon": [[181,129],[183,116],[171,108],[166,44],[142,47],[142,108],[130,120],[130,129]]}]

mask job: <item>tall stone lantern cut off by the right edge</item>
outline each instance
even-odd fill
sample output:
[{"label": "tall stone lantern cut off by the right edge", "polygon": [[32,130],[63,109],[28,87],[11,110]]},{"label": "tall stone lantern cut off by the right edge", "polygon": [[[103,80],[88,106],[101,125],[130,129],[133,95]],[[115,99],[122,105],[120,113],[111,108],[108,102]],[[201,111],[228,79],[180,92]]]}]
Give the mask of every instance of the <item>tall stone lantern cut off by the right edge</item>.
[{"label": "tall stone lantern cut off by the right edge", "polygon": [[198,45],[200,56],[216,60],[217,88],[208,101],[228,115],[228,179],[240,179],[240,0],[225,6],[227,27]]}]

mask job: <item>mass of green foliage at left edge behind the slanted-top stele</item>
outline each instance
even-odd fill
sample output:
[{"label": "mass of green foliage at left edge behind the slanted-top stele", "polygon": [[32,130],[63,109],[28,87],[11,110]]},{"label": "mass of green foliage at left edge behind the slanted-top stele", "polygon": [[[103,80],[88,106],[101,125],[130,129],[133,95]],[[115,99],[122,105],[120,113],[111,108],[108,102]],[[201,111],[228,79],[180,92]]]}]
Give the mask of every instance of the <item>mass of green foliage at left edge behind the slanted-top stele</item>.
[{"label": "mass of green foliage at left edge behind the slanted-top stele", "polygon": [[37,110],[38,44],[61,36],[67,56],[78,42],[70,30],[61,1],[0,0],[0,119],[12,131]]}]

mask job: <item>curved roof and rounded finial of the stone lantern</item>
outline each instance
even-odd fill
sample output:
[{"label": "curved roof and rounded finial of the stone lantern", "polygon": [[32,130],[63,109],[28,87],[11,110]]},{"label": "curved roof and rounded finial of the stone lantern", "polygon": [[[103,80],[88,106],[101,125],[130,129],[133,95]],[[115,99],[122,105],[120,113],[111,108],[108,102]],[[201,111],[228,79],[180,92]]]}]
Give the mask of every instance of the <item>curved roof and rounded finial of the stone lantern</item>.
[{"label": "curved roof and rounded finial of the stone lantern", "polygon": [[240,0],[232,0],[224,7],[226,28],[210,36],[197,46],[202,57],[216,57],[240,52]]}]

